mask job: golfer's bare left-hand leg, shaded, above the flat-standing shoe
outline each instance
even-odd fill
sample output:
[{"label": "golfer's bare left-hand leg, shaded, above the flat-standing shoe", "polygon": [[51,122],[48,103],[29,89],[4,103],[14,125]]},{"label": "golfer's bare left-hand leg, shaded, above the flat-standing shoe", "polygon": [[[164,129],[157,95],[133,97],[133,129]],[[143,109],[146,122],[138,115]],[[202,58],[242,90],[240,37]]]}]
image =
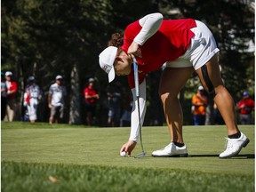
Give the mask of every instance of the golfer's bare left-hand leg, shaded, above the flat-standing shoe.
[{"label": "golfer's bare left-hand leg, shaded, above the flat-standing shoe", "polygon": [[183,143],[183,113],[178,94],[191,76],[194,68],[165,68],[159,86],[164,106],[164,116],[171,134],[171,141]]}]

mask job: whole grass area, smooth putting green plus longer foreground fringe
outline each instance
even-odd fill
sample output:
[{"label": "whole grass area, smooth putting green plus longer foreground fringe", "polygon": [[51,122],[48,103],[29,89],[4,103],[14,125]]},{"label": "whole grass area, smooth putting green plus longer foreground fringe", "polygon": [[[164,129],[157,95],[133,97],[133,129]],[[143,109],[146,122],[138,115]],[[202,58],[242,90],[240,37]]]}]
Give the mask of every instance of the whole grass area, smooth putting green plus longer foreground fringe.
[{"label": "whole grass area, smooth putting green plus longer foreground fringe", "polygon": [[254,191],[254,125],[239,128],[251,142],[220,159],[225,126],[184,126],[187,158],[152,157],[170,136],[143,127],[135,159],[119,156],[130,128],[2,122],[2,191]]}]

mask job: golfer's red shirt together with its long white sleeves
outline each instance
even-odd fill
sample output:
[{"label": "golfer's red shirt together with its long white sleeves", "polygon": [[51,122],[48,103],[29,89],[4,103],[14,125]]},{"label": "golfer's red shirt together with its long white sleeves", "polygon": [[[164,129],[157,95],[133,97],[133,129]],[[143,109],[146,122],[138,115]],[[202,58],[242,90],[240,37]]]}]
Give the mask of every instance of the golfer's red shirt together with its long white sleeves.
[{"label": "golfer's red shirt together with its long white sleeves", "polygon": [[140,124],[144,122],[146,114],[146,81],[145,76],[161,68],[165,62],[178,59],[190,45],[194,33],[190,28],[196,27],[196,21],[163,20],[160,13],[148,14],[130,24],[124,30],[124,44],[121,47],[128,52],[132,41],[140,44],[140,57],[137,57],[139,84],[140,84],[140,118],[138,106],[135,103],[134,72],[128,76],[128,82],[132,89],[133,105],[131,118],[131,132],[129,140],[137,141],[140,135]]}]

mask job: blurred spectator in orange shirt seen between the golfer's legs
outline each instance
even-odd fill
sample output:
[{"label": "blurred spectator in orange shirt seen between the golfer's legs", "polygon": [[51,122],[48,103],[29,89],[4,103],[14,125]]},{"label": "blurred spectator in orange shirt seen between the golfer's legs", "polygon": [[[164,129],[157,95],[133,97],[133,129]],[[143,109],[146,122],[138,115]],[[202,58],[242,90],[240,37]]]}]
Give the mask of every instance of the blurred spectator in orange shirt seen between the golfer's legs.
[{"label": "blurred spectator in orange shirt seen between the golfer's legs", "polygon": [[196,95],[192,98],[192,113],[195,125],[205,124],[207,98],[204,96],[204,87],[199,86]]}]

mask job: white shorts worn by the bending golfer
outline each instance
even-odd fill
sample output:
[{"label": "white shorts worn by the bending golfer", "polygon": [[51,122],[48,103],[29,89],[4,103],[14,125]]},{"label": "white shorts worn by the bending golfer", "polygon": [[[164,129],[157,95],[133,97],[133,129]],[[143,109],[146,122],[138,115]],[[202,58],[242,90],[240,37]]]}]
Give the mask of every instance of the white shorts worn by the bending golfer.
[{"label": "white shorts worn by the bending golfer", "polygon": [[212,32],[203,22],[196,20],[196,28],[191,28],[190,30],[195,36],[191,38],[191,44],[187,52],[177,60],[167,62],[167,68],[193,67],[196,70],[204,66],[214,54],[220,51],[217,48]]}]

